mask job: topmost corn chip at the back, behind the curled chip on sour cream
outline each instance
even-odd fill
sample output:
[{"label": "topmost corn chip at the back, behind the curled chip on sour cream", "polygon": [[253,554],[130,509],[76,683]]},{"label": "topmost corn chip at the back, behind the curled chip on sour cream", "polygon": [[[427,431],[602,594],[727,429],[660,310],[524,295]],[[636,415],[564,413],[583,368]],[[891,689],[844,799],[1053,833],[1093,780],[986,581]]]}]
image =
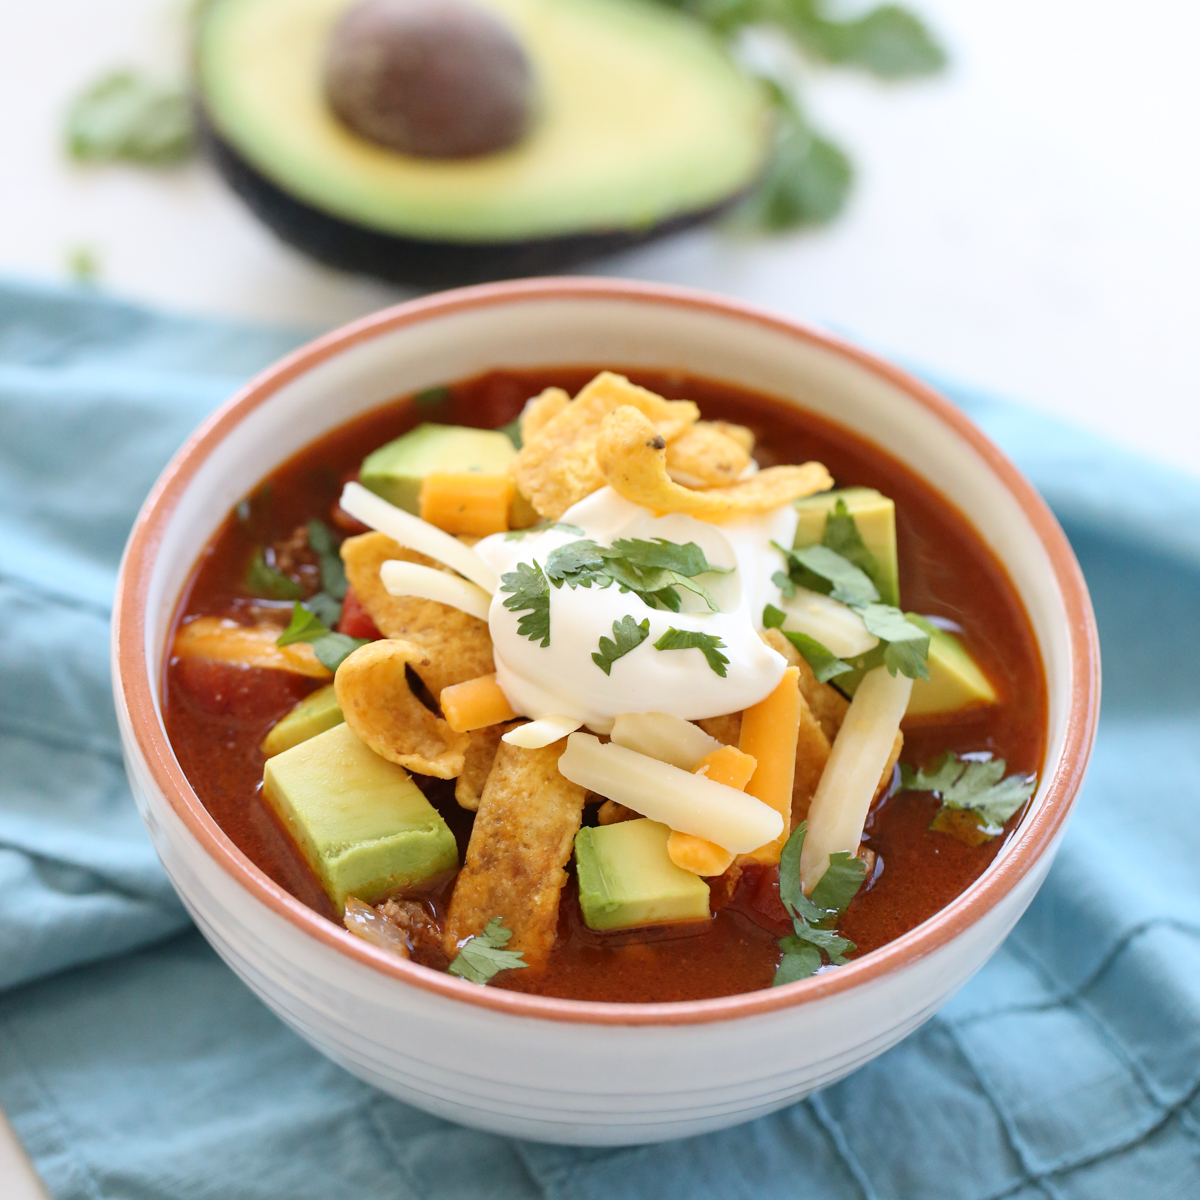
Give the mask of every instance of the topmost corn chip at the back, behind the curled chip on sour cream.
[{"label": "topmost corn chip at the back, behind the curled chip on sour cream", "polygon": [[624,376],[601,371],[514,460],[512,478],[541,516],[557,521],[572,504],[604,487],[596,467],[596,437],[605,418],[622,407],[638,413],[664,444],[700,416],[690,400],[664,400]]}]

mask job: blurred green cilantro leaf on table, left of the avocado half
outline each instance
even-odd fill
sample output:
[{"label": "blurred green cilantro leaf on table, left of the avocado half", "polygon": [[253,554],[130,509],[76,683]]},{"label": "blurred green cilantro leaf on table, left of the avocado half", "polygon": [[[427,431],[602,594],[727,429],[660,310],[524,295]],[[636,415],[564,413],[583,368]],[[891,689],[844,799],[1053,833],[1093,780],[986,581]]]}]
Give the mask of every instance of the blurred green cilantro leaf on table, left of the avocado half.
[{"label": "blurred green cilantro leaf on table, left of the avocado half", "polygon": [[114,71],[67,110],[67,150],[80,162],[164,167],[191,157],[196,119],[185,88]]}]

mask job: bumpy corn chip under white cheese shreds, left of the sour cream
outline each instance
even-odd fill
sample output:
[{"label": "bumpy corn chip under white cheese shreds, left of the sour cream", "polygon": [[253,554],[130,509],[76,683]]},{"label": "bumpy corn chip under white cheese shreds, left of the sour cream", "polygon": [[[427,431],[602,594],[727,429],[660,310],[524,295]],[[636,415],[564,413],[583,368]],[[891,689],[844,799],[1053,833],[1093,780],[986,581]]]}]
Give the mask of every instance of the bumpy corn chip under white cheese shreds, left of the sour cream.
[{"label": "bumpy corn chip under white cheese shreds, left of the sour cream", "polygon": [[365,533],[342,542],[346,577],[379,632],[384,637],[413,642],[425,650],[422,661],[413,665],[421,683],[434,696],[440,696],[443,688],[494,671],[487,622],[436,600],[389,595],[379,578],[379,568],[390,558],[440,570],[446,568],[382,533]]}]

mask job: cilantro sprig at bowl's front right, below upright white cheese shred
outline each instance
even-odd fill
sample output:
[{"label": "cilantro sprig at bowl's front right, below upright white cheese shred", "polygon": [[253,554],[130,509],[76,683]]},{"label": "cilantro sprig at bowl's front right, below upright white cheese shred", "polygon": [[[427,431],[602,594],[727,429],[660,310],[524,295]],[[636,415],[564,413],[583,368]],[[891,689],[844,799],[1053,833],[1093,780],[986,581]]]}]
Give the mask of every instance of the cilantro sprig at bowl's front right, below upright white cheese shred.
[{"label": "cilantro sprig at bowl's front right, below upright white cheese shred", "polygon": [[800,852],[808,830],[800,822],[784,846],[779,859],[779,899],[792,918],[792,932],[779,941],[784,958],[775,970],[772,986],[808,979],[824,966],[841,966],[856,949],[848,937],[842,937],[838,922],[858,895],[866,878],[866,865],[846,851],[829,856],[829,866],[806,896],[800,887]]}]

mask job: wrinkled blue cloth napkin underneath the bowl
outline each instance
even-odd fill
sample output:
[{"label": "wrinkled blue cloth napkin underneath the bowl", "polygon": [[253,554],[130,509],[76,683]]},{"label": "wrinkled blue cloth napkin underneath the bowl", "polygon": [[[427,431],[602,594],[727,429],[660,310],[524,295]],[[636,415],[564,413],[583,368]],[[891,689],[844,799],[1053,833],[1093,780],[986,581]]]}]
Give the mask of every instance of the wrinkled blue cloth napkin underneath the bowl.
[{"label": "wrinkled blue cloth napkin underneath the bowl", "polygon": [[0,1104],[59,1200],[1200,1195],[1200,482],[949,390],[1049,497],[1094,764],[1001,952],[852,1078],[721,1134],[508,1141],[334,1067],[221,965],[127,793],[107,618],[170,451],[294,338],[0,287]]}]

